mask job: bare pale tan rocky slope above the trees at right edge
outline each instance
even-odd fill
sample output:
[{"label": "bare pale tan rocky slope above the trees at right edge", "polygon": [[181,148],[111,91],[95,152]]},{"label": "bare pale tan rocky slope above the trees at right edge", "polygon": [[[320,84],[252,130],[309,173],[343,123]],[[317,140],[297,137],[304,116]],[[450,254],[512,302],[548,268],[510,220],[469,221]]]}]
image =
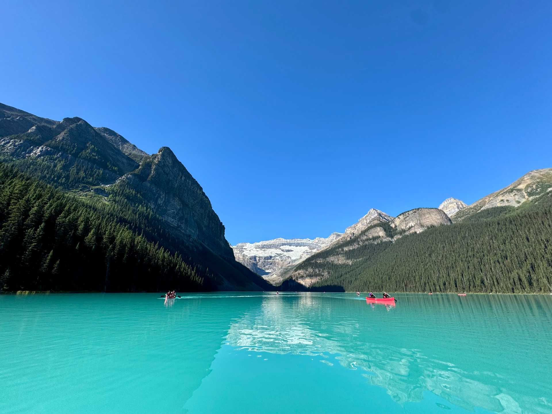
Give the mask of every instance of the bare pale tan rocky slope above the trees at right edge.
[{"label": "bare pale tan rocky slope above the trees at right edge", "polygon": [[517,207],[552,190],[552,168],[535,169],[497,192],[470,204],[454,215],[454,221],[461,221],[478,211],[499,206]]}]

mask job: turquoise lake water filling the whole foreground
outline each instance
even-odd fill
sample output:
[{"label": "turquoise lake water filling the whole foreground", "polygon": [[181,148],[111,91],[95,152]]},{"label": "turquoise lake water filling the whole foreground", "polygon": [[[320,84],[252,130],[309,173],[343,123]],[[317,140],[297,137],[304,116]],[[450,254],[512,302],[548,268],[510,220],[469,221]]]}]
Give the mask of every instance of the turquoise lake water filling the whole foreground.
[{"label": "turquoise lake water filling the whole foreground", "polygon": [[0,412],[552,413],[552,296],[0,295]]}]

